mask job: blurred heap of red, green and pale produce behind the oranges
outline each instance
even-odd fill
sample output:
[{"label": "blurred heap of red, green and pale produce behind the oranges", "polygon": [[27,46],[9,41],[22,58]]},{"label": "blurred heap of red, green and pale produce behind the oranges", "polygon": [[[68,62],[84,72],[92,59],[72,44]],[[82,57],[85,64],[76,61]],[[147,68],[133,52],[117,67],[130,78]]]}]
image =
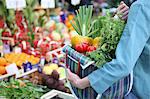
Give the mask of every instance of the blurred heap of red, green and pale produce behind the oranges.
[{"label": "blurred heap of red, green and pale produce behind the oranges", "polygon": [[[70,41],[74,30],[67,24],[70,24],[73,15],[68,15],[64,23],[61,19],[54,20],[46,16],[45,10],[34,10],[35,2],[28,0],[25,9],[16,11],[6,11],[5,2],[2,2],[2,10],[6,13],[0,17],[0,34],[12,38],[14,45],[20,47],[22,52],[40,57],[63,47],[65,41]],[[61,13],[57,16],[61,17]],[[11,43],[8,40],[2,41],[4,45]]]}]

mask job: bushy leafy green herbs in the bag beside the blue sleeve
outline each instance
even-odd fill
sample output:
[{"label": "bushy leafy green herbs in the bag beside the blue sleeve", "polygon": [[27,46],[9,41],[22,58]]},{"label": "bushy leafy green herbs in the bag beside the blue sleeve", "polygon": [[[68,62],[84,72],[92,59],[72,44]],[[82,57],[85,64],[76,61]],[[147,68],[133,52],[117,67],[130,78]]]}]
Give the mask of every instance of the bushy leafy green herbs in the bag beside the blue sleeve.
[{"label": "bushy leafy green herbs in the bag beside the blue sleeve", "polygon": [[96,66],[101,67],[115,58],[115,50],[124,29],[124,22],[112,18],[109,14],[100,16],[98,20],[100,30],[96,36],[102,37],[101,46],[87,55],[96,62]]}]

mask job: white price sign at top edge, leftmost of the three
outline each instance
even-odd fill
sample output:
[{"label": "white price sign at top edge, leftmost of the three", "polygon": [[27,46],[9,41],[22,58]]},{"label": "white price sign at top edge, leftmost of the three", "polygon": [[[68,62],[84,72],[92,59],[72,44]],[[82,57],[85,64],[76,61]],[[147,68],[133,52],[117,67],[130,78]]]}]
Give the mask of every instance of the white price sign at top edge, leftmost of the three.
[{"label": "white price sign at top edge, leftmost of the three", "polygon": [[18,9],[25,8],[26,1],[25,0],[6,0],[7,9]]}]

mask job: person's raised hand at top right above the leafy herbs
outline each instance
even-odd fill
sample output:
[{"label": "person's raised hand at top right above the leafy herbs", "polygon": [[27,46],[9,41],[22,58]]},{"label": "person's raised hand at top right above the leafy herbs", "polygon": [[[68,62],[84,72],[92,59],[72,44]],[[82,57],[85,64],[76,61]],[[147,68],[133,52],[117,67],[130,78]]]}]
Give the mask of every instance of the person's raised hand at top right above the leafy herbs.
[{"label": "person's raised hand at top right above the leafy herbs", "polygon": [[121,19],[127,20],[129,7],[123,1],[121,1],[119,7],[117,8],[117,13],[122,14],[121,16],[119,16]]}]

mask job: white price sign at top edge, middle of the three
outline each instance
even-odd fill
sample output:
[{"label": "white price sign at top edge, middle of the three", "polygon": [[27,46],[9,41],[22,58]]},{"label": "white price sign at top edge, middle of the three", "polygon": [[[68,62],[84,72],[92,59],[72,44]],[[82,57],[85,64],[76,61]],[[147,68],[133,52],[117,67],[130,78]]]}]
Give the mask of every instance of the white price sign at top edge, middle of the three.
[{"label": "white price sign at top edge, middle of the three", "polygon": [[55,8],[55,0],[41,0],[42,8]]}]

